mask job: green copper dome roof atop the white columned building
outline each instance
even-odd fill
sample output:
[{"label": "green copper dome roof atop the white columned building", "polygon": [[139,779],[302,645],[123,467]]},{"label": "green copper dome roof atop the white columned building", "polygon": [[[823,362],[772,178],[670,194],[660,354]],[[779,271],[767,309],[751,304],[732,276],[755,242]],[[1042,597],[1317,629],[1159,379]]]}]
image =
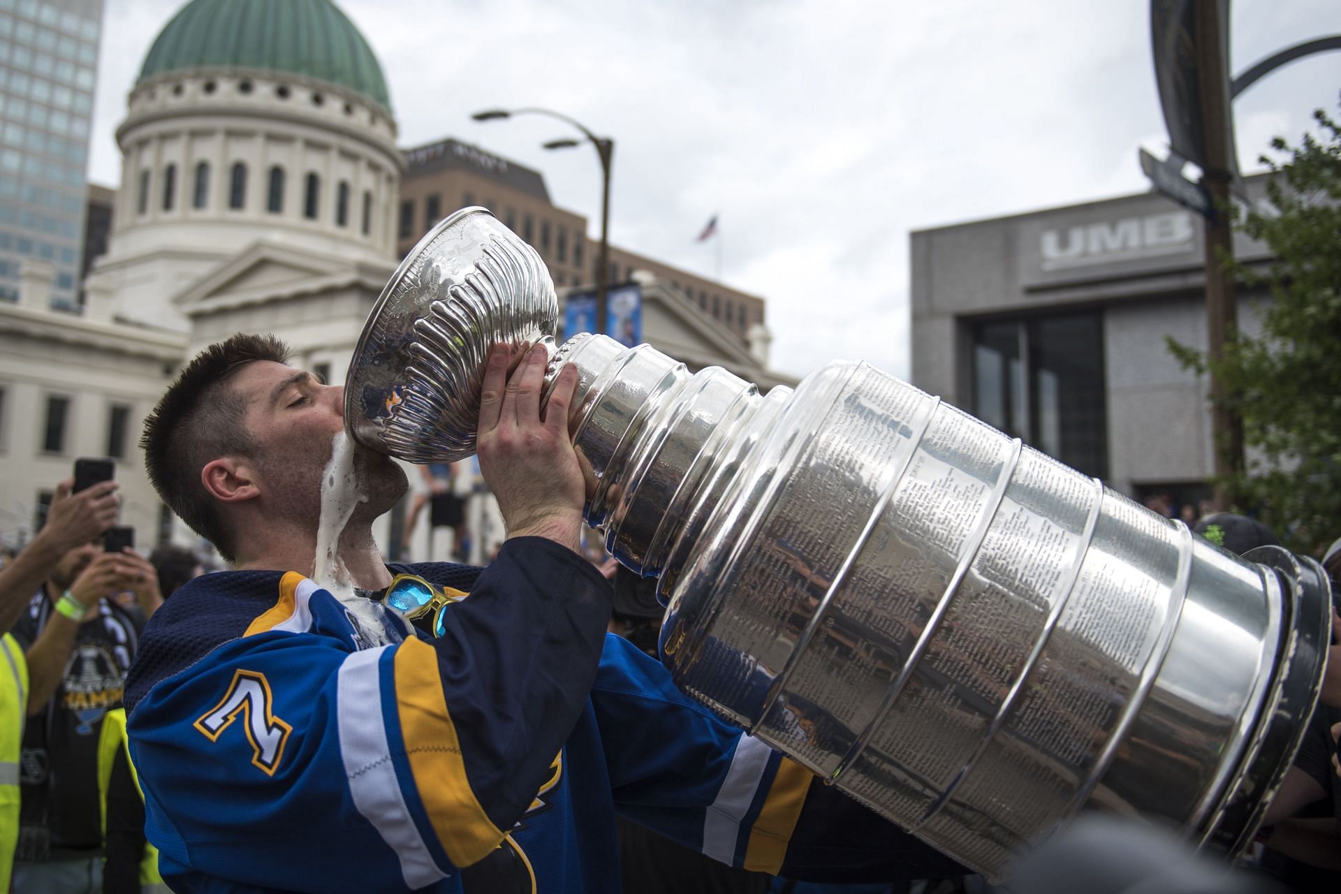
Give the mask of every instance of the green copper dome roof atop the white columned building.
[{"label": "green copper dome roof atop the white columned building", "polygon": [[190,0],[149,48],[139,80],[186,68],[284,71],[392,107],[371,47],[330,0]]}]

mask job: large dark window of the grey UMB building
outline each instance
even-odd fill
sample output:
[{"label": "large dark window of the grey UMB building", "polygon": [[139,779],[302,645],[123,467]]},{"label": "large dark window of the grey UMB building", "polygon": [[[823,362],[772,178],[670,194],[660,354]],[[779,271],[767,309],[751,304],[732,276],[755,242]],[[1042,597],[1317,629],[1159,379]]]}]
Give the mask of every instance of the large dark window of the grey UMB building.
[{"label": "large dark window of the grey UMB building", "polygon": [[1086,474],[1108,474],[1098,314],[980,323],[972,343],[974,416]]}]

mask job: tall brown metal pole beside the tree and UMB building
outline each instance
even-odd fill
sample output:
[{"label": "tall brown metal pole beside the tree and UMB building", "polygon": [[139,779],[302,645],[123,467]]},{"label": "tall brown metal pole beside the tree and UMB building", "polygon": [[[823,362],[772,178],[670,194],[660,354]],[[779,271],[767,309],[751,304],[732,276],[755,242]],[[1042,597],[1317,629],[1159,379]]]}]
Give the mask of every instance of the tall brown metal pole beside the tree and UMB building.
[{"label": "tall brown metal pole beside the tree and UMB building", "polygon": [[[1224,70],[1222,0],[1196,0],[1198,74],[1200,83],[1206,166],[1203,184],[1215,204],[1215,216],[1206,221],[1206,331],[1212,359],[1224,355],[1238,324],[1234,280],[1224,263],[1234,256],[1230,229],[1228,79]],[[1232,395],[1218,375],[1211,374],[1211,432],[1215,445],[1215,488],[1219,509],[1230,508],[1231,495],[1224,477],[1243,470],[1243,421],[1227,403]]]}]

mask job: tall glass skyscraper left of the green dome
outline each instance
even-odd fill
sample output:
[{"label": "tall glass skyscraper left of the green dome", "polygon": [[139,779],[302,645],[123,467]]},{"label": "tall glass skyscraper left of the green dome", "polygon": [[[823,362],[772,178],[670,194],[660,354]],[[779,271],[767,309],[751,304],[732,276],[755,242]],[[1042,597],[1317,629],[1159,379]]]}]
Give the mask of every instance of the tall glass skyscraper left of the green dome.
[{"label": "tall glass skyscraper left of the green dome", "polygon": [[103,0],[0,0],[0,300],[27,259],[78,307],[93,90]]}]

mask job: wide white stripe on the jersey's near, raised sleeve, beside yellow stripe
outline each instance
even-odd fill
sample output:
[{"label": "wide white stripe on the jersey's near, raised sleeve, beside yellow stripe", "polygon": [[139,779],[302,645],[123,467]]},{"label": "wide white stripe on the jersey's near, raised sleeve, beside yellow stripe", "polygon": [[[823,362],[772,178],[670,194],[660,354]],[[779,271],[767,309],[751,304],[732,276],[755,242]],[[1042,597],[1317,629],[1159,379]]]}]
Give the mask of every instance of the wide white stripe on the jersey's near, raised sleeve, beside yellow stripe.
[{"label": "wide white stripe on the jersey's near, raised sleeve, beside yellow stripe", "polygon": [[339,751],[354,806],[396,851],[405,885],[417,889],[447,873],[433,862],[414,826],[386,745],[377,662],[388,647],[355,651],[341,663],[335,689]]}]

